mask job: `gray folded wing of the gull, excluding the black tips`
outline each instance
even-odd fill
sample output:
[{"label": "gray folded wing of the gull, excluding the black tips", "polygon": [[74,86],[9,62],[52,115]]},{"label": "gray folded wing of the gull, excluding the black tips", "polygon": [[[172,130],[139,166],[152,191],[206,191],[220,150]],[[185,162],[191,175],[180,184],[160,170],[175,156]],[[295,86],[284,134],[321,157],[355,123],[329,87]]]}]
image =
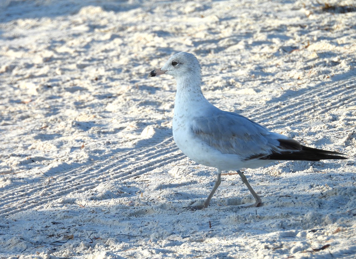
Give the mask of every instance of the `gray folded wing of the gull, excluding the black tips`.
[{"label": "gray folded wing of the gull, excluding the black tips", "polygon": [[275,136],[279,134],[236,113],[219,110],[193,119],[192,125],[193,133],[210,146],[247,160],[269,155],[279,146]]}]

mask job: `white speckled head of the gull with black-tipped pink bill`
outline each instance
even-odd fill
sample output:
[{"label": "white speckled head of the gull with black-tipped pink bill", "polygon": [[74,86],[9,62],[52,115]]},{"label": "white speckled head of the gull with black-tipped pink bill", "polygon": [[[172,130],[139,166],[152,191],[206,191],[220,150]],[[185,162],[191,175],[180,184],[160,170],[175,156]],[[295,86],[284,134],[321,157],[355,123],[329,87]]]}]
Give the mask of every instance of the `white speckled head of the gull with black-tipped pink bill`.
[{"label": "white speckled head of the gull with black-tipped pink bill", "polygon": [[177,79],[178,77],[185,77],[195,73],[200,75],[198,59],[192,53],[179,52],[170,57],[163,67],[152,70],[148,77],[169,74]]}]

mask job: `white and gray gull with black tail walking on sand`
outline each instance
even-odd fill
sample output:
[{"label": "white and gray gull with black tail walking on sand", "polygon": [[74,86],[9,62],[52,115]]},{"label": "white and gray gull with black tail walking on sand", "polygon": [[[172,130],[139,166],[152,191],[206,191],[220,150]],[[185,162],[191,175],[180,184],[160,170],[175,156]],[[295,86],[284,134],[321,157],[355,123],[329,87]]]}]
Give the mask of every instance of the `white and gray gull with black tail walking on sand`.
[{"label": "white and gray gull with black tail walking on sand", "polygon": [[[215,107],[201,92],[201,67],[191,53],[173,55],[162,68],[148,77],[169,74],[176,79],[177,93],[174,102],[173,139],[179,149],[198,164],[215,167],[218,178],[203,204],[192,209],[209,206],[211,197],[221,183],[221,171],[236,171],[255,198],[248,207],[261,205],[261,198],[252,189],[242,168],[258,168],[273,161],[346,159],[339,152],[315,149],[237,113]],[[192,204],[191,204],[192,205]]]}]

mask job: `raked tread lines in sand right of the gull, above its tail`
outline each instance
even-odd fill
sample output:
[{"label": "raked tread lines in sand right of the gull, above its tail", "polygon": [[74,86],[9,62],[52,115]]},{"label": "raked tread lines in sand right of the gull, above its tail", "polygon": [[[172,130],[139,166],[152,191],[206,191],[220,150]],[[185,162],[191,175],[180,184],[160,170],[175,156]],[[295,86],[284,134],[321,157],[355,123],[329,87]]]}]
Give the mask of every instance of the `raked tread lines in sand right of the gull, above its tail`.
[{"label": "raked tread lines in sand right of the gull, above its tail", "polygon": [[[265,126],[286,125],[284,118],[288,117],[288,125],[305,121],[312,113],[313,116],[325,114],[330,110],[336,111],[339,107],[352,107],[356,105],[356,75],[332,83],[318,84],[306,89],[295,90],[286,94],[286,97],[272,99],[263,108],[258,107],[248,111],[252,120]],[[351,96],[351,98],[350,98]],[[269,105],[272,104],[272,105]],[[309,120],[309,119],[308,119]]]}]

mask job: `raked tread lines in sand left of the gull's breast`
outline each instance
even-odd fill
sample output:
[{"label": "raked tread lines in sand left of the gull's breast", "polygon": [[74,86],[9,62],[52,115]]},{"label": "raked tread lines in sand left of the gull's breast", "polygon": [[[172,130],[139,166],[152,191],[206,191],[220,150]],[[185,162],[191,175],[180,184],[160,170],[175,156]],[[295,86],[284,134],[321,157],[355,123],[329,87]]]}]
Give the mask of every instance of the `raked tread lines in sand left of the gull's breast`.
[{"label": "raked tread lines in sand left of the gull's breast", "polygon": [[[84,192],[105,181],[125,180],[142,175],[182,157],[183,154],[173,143],[173,138],[169,137],[154,146],[130,150],[105,161],[96,161],[55,175],[51,177],[49,184],[48,177],[43,177],[37,183],[21,186],[22,192],[16,192],[13,196],[1,195],[0,216],[38,207],[71,192]],[[128,160],[125,161],[126,159]]]}]

